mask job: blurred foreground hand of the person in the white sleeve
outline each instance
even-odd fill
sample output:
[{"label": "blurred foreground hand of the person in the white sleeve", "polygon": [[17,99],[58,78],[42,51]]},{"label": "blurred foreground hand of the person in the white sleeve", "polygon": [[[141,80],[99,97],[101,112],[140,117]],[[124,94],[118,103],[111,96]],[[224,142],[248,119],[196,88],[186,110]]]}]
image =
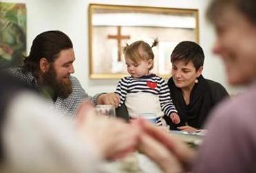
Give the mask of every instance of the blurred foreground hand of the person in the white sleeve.
[{"label": "blurred foreground hand of the person in the white sleeve", "polygon": [[82,103],[76,116],[82,139],[91,143],[104,159],[117,159],[136,149],[139,127],[131,127],[119,119],[97,116],[90,103]]}]

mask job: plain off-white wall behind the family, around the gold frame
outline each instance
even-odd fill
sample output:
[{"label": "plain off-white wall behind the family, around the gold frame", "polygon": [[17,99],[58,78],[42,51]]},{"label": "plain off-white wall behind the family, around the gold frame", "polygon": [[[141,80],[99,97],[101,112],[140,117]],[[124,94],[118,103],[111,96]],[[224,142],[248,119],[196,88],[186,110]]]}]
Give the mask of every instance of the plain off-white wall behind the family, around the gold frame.
[{"label": "plain off-white wall behind the family, around the gold frame", "polygon": [[[1,1],[1,0],[0,0]],[[111,92],[115,90],[117,80],[91,80],[88,77],[88,4],[108,3],[132,6],[159,6],[168,8],[199,9],[199,43],[204,48],[206,61],[204,76],[223,84],[229,92],[238,90],[230,88],[226,81],[224,68],[219,59],[211,53],[214,41],[213,28],[206,22],[204,12],[208,0],[4,0],[5,2],[26,3],[28,12],[28,51],[32,39],[45,30],[62,30],[72,39],[75,48],[75,76],[89,94]]]}]

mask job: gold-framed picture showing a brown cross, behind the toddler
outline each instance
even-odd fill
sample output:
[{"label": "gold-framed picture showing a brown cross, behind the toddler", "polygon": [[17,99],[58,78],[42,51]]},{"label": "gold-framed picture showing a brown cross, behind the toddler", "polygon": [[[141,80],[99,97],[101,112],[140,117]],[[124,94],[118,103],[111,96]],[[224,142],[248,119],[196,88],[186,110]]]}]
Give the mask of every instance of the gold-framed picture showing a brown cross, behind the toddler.
[{"label": "gold-framed picture showing a brown cross, behind the toddler", "polygon": [[170,54],[180,41],[199,41],[197,9],[90,4],[88,8],[90,79],[128,76],[126,43],[143,40],[152,45],[152,73],[170,77]]}]

